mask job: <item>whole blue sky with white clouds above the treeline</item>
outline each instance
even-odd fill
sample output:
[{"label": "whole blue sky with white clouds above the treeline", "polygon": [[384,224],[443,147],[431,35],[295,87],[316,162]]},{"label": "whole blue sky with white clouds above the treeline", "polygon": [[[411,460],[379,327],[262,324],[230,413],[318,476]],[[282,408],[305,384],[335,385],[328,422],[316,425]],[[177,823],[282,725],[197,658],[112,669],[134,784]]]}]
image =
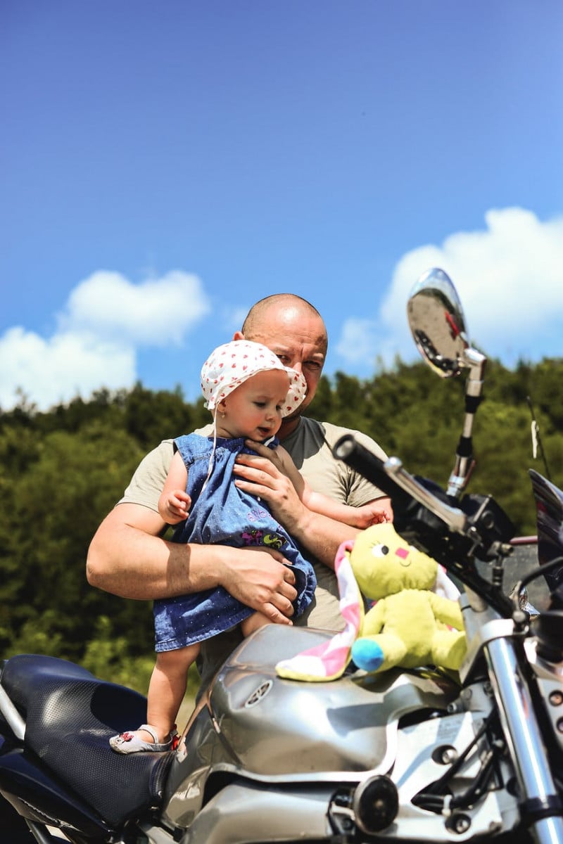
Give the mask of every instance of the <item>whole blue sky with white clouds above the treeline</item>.
[{"label": "whole blue sky with white clouds above the treeline", "polygon": [[436,265],[488,354],[560,356],[562,43],[560,0],[4,0],[0,408],[196,398],[280,291],[368,377]]}]

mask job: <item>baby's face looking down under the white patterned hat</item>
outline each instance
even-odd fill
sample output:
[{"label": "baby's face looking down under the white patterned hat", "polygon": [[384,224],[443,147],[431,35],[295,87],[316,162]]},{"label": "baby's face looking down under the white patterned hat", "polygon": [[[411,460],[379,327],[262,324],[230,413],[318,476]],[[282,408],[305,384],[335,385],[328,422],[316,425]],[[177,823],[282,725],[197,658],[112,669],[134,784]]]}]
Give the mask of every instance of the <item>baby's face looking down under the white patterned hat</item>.
[{"label": "baby's face looking down under the white patterned hat", "polygon": [[218,435],[257,441],[274,436],[289,389],[290,379],[283,370],[257,372],[219,404]]}]

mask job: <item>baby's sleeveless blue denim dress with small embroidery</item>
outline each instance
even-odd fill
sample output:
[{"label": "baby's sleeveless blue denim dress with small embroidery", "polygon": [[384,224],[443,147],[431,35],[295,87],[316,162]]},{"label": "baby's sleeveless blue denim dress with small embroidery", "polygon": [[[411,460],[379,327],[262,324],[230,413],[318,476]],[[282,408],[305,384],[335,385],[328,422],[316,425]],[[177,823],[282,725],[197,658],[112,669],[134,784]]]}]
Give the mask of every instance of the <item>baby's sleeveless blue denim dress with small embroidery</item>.
[{"label": "baby's sleeveless blue denim dress with small embroidery", "polygon": [[[178,437],[174,443],[187,467],[187,493],[192,496],[192,506],[186,521],[176,527],[172,541],[233,548],[264,545],[279,549],[295,572],[297,598],[294,609],[295,614],[300,615],[311,603],[317,586],[313,567],[264,502],[235,487],[231,477],[237,454],[254,452],[246,448],[244,439],[218,438],[213,471],[202,492],[213,452],[213,438],[188,434]],[[274,440],[270,446],[277,444]],[[253,612],[223,587],[157,600],[154,602],[155,650],[175,651],[210,639],[240,624]]]}]

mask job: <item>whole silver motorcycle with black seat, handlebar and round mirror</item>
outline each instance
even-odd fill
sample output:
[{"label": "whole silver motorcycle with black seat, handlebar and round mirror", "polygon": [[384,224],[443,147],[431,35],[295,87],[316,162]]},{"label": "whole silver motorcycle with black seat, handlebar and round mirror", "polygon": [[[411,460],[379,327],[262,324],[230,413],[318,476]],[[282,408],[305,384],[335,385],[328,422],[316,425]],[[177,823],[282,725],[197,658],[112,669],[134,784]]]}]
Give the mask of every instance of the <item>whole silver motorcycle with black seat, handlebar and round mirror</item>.
[{"label": "whole silver motorcycle with black seat, handlebar and round mirror", "polygon": [[434,370],[469,371],[447,490],[352,436],[334,454],[391,496],[398,533],[463,584],[459,673],[352,664],[330,682],[282,679],[279,661],[331,634],[267,625],[219,669],[175,750],[118,755],[108,738],[145,720],[143,695],[61,659],[11,657],[0,675],[3,840],[563,842],[563,587],[555,577],[537,613],[520,599],[563,565],[563,494],[533,473],[549,560],[510,597],[512,523],[490,496],[463,494],[485,356],[441,270],[419,279],[408,313]]}]

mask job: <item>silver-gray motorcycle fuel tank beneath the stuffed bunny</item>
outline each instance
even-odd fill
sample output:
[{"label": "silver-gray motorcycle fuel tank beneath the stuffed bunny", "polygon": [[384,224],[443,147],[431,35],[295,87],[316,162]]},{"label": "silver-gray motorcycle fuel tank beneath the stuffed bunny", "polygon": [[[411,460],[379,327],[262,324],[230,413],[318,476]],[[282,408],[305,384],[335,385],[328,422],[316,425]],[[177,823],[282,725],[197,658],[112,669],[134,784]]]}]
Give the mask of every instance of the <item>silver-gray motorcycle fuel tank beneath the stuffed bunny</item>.
[{"label": "silver-gray motorcycle fuel tank beneath the stuffed bunny", "polygon": [[329,637],[267,625],[242,642],[217,675],[210,708],[222,741],[245,771],[371,770],[382,765],[400,716],[420,708],[443,711],[458,694],[449,679],[429,672],[351,674],[323,683],[276,675],[280,659]]}]

